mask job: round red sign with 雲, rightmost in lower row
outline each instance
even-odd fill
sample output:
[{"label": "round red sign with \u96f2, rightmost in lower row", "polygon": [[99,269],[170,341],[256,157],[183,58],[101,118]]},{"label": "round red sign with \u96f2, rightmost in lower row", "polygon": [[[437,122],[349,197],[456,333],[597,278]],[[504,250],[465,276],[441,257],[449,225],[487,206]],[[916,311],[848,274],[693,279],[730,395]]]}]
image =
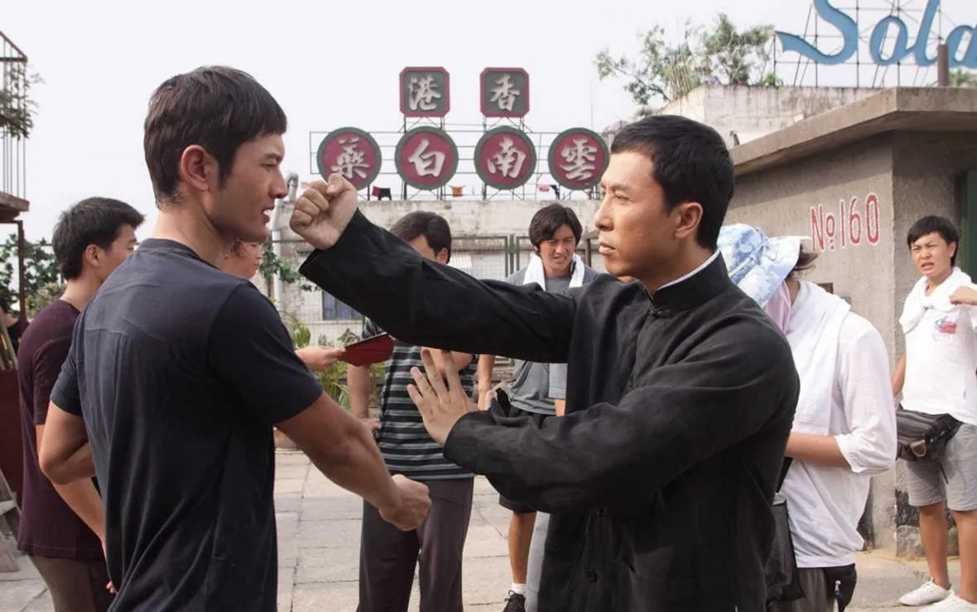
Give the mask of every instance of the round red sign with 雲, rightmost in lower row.
[{"label": "round red sign with \u96f2, rightmost in lower row", "polygon": [[608,145],[596,132],[571,128],[550,144],[549,171],[568,189],[589,189],[601,182],[608,167]]}]

